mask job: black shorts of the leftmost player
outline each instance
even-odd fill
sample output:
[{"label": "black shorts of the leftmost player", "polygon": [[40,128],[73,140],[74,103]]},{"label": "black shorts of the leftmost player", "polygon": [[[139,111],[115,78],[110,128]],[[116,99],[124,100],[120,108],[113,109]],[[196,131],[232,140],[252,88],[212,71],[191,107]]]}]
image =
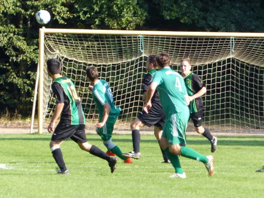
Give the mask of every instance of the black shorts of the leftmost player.
[{"label": "black shorts of the leftmost player", "polygon": [[59,142],[62,140],[72,139],[74,142],[87,142],[85,134],[85,124],[70,125],[59,122],[52,135],[52,141]]}]

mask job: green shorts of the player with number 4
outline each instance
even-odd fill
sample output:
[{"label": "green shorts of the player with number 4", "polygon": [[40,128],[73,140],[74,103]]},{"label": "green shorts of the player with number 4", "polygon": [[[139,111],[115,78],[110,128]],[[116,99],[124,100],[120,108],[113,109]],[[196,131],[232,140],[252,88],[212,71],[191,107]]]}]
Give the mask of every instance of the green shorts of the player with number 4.
[{"label": "green shorts of the player with number 4", "polygon": [[168,140],[169,145],[185,143],[185,131],[189,120],[188,112],[179,112],[166,116],[162,137]]}]

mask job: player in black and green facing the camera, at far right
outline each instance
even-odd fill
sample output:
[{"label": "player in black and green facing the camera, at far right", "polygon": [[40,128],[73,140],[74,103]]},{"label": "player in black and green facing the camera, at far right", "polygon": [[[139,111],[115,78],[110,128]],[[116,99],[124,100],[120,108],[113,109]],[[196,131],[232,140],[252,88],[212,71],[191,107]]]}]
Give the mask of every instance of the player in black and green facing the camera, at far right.
[{"label": "player in black and green facing the camera, at far right", "polygon": [[211,152],[217,148],[217,138],[213,137],[207,128],[202,126],[203,123],[203,99],[201,96],[206,94],[206,84],[195,73],[191,72],[191,62],[189,58],[181,60],[181,75],[187,89],[187,94],[190,99],[190,119],[193,120],[194,127],[197,133],[202,134],[211,143]]}]

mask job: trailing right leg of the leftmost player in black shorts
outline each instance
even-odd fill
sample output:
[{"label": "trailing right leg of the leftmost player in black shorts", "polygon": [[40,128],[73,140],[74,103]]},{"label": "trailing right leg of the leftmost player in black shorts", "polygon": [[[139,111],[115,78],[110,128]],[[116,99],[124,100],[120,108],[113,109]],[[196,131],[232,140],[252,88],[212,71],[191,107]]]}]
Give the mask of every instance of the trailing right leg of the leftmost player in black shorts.
[{"label": "trailing right leg of the leftmost player in black shorts", "polygon": [[117,158],[110,157],[103,150],[96,147],[95,145],[90,145],[86,139],[85,125],[82,124],[77,126],[78,128],[76,129],[74,135],[71,136],[71,139],[76,142],[82,150],[85,150],[87,152],[90,152],[92,155],[105,159],[108,162],[109,167],[111,168],[111,173],[113,173],[116,168]]}]

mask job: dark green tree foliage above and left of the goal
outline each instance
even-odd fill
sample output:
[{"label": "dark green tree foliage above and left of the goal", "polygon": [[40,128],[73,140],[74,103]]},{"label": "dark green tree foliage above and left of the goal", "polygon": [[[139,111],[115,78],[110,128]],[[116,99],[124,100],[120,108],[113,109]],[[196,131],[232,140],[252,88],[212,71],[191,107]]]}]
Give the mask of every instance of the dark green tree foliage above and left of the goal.
[{"label": "dark green tree foliage above and left of the goal", "polygon": [[0,112],[29,116],[40,9],[49,28],[263,32],[263,0],[1,0]]}]

